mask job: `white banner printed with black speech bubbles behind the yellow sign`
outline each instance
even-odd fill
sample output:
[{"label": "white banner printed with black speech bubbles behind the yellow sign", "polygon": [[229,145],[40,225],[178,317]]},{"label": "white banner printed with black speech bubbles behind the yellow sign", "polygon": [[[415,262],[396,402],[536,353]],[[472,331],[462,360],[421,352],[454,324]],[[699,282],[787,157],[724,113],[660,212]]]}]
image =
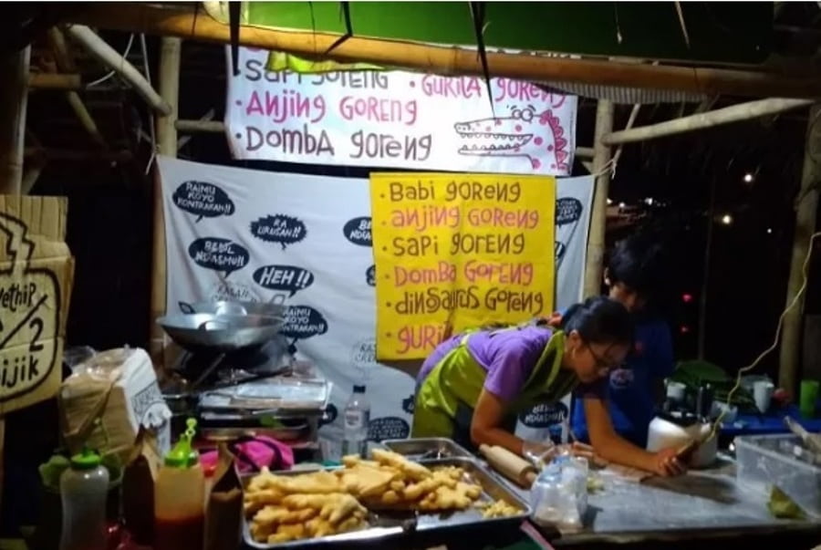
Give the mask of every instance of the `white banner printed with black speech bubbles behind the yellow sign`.
[{"label": "white banner printed with black speech bubbles behind the yellow sign", "polygon": [[[338,410],[365,384],[371,439],[406,437],[414,380],[375,360],[368,180],[158,163],[169,313],[181,302],[284,300],[284,333],[333,382]],[[565,307],[581,297],[593,178],[560,179],[556,189],[556,306]],[[544,431],[527,423],[520,430]],[[341,434],[341,420],[322,429],[332,443]]]}]

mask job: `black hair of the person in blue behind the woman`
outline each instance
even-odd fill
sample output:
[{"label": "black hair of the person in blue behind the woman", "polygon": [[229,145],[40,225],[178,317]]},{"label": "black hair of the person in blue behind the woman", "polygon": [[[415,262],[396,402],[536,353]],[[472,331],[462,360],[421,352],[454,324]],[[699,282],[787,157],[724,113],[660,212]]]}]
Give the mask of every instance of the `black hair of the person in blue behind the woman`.
[{"label": "black hair of the person in blue behind the woman", "polygon": [[630,235],[613,248],[608,262],[610,285],[622,283],[649,302],[660,299],[669,282],[662,244],[646,233]]}]

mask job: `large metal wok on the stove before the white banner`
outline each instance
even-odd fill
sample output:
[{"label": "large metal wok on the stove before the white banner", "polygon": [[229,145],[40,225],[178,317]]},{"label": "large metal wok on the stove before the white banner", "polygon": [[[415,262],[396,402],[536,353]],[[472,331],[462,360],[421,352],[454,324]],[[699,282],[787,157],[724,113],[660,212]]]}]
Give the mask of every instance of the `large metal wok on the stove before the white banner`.
[{"label": "large metal wok on the stove before the white banner", "polygon": [[276,336],[283,319],[195,313],[160,317],[157,323],[174,342],[188,351],[229,352],[262,346]]}]

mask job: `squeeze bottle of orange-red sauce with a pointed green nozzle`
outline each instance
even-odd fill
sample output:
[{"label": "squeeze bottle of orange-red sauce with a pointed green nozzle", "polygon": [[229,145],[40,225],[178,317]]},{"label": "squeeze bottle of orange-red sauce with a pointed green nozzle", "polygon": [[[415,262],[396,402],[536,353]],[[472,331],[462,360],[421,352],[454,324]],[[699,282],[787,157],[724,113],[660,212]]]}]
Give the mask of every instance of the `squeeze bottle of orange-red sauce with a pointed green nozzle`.
[{"label": "squeeze bottle of orange-red sauce with a pointed green nozzle", "polygon": [[205,476],[191,446],[197,421],[187,424],[154,483],[154,550],[203,550]]}]

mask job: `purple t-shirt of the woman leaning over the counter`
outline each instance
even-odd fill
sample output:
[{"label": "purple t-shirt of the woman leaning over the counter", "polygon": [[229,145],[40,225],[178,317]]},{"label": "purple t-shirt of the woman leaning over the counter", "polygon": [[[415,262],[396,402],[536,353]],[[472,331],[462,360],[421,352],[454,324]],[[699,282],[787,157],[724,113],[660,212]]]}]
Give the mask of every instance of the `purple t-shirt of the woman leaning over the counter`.
[{"label": "purple t-shirt of the woman leaning over the counter", "polygon": [[[530,378],[553,331],[548,327],[522,327],[516,330],[483,330],[468,339],[473,359],[487,371],[484,389],[504,401],[516,399]],[[417,377],[421,383],[445,355],[459,346],[463,335],[451,337],[433,350],[422,363]],[[574,394],[603,398],[606,385],[602,379],[593,384],[579,384]]]}]

